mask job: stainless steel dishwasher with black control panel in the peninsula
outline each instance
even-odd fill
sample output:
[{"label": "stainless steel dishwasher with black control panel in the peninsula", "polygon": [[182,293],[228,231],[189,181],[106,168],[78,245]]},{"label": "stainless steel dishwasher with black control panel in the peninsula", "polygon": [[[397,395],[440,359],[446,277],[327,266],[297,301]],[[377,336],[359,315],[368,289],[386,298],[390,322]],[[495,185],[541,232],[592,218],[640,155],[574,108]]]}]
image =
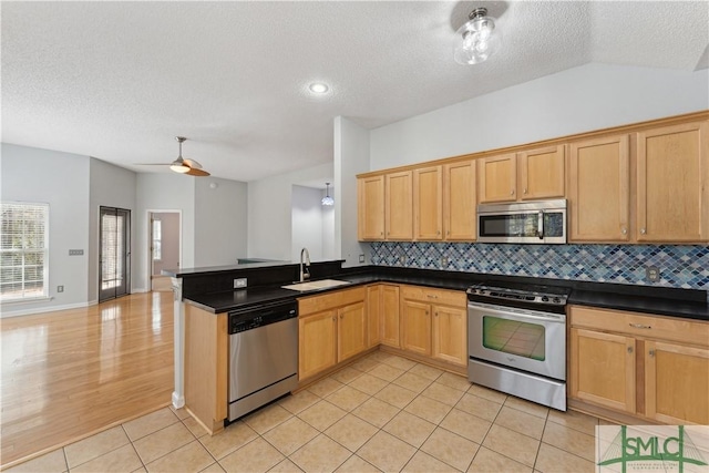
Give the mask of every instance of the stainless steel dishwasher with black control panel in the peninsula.
[{"label": "stainless steel dishwasher with black control panel in the peninsula", "polygon": [[229,414],[242,415],[298,385],[298,304],[229,312]]}]

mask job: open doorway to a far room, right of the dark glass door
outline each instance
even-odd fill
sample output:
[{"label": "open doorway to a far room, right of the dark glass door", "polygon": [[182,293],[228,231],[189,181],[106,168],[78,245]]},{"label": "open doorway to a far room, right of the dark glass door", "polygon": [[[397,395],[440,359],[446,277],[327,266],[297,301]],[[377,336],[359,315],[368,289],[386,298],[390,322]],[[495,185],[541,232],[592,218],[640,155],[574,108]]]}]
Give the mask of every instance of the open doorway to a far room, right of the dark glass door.
[{"label": "open doorway to a far room, right of the dark glass door", "polygon": [[179,212],[157,210],[148,213],[150,284],[153,291],[172,290],[169,276],[163,269],[179,269]]}]

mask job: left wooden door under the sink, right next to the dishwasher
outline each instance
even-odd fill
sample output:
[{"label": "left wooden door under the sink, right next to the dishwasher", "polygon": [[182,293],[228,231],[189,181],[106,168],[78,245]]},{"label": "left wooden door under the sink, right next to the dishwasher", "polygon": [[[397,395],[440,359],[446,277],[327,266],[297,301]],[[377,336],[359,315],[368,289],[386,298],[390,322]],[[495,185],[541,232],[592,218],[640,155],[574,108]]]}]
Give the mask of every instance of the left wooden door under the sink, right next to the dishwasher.
[{"label": "left wooden door under the sink, right next to the dishwasher", "polygon": [[337,363],[337,311],[298,320],[298,379],[310,378]]}]

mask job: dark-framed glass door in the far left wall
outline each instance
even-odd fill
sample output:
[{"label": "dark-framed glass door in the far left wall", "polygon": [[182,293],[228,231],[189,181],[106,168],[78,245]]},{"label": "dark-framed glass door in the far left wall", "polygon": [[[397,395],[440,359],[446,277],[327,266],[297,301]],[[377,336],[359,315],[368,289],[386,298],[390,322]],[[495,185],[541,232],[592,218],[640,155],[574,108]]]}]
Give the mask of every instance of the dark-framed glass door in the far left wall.
[{"label": "dark-framed glass door in the far left wall", "polygon": [[125,296],[131,287],[131,210],[100,207],[99,301]]}]

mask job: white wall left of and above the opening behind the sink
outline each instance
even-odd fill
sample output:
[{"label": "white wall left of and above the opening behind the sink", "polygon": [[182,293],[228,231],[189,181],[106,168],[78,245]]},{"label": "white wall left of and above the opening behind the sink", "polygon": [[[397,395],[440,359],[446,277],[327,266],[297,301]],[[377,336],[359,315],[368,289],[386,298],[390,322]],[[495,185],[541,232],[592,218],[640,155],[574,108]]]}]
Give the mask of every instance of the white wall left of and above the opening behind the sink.
[{"label": "white wall left of and above the opening behind the sink", "polygon": [[249,182],[248,256],[290,261],[292,185],[316,179],[325,182],[329,176],[332,176],[332,163]]}]

